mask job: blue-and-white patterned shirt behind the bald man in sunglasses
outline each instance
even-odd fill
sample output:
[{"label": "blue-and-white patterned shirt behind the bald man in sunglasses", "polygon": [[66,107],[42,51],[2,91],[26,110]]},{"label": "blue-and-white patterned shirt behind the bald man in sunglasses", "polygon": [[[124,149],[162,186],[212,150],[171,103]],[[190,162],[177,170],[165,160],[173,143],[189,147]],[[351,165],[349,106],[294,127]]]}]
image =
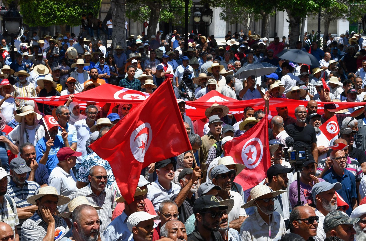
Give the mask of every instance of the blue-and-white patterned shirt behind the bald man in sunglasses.
[{"label": "blue-and-white patterned shirt behind the bald man in sunglasses", "polygon": [[112,167],[109,165],[107,160],[102,159],[97,153],[91,152],[89,155],[85,155],[81,161],[81,165],[78,173],[76,174],[77,180],[81,182],[89,183],[88,176],[89,170],[93,166],[102,166],[107,171],[108,181],[105,188],[111,188],[113,182],[115,182],[115,177],[112,172]]}]

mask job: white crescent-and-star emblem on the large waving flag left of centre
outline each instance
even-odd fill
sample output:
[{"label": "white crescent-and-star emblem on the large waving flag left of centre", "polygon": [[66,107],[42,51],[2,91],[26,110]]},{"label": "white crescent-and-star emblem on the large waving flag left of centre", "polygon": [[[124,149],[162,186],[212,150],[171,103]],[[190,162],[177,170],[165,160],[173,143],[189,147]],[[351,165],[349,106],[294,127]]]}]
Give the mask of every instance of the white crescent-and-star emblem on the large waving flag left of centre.
[{"label": "white crescent-and-star emblem on the large waving flag left of centre", "polygon": [[130,136],[130,148],[134,158],[143,162],[145,153],[150,146],[153,138],[153,131],[151,125],[147,122],[139,125]]}]

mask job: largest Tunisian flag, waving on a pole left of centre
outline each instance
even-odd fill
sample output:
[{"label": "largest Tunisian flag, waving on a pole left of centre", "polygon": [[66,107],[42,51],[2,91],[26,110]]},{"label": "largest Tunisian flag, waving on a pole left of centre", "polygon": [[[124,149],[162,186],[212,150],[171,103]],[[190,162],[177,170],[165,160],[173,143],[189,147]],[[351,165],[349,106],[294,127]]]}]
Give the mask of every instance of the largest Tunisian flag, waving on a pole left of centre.
[{"label": "largest Tunisian flag, waving on a pole left of centre", "polygon": [[109,162],[122,196],[131,203],[142,168],[192,149],[170,80],[90,148]]}]

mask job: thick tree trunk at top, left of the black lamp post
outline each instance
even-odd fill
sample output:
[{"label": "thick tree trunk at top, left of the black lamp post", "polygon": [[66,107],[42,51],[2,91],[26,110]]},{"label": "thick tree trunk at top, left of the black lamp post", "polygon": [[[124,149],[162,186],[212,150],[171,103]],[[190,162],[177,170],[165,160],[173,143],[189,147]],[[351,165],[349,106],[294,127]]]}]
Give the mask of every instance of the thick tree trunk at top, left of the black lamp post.
[{"label": "thick tree trunk at top, left of the black lamp post", "polygon": [[111,0],[113,22],[113,49],[121,45],[126,49],[126,0]]}]

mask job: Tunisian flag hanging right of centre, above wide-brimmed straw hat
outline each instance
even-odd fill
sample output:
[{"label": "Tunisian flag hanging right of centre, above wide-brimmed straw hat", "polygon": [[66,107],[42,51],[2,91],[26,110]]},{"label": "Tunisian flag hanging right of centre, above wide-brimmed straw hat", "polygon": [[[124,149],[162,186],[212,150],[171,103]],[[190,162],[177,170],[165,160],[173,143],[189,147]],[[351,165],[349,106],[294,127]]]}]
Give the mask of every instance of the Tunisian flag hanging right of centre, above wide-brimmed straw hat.
[{"label": "Tunisian flag hanging right of centre, above wide-brimmed straw hat", "polygon": [[235,163],[244,164],[244,170],[235,177],[235,182],[242,185],[243,190],[258,185],[266,178],[270,167],[268,147],[268,119],[262,118],[249,131],[225,144],[225,153],[234,158]]}]

